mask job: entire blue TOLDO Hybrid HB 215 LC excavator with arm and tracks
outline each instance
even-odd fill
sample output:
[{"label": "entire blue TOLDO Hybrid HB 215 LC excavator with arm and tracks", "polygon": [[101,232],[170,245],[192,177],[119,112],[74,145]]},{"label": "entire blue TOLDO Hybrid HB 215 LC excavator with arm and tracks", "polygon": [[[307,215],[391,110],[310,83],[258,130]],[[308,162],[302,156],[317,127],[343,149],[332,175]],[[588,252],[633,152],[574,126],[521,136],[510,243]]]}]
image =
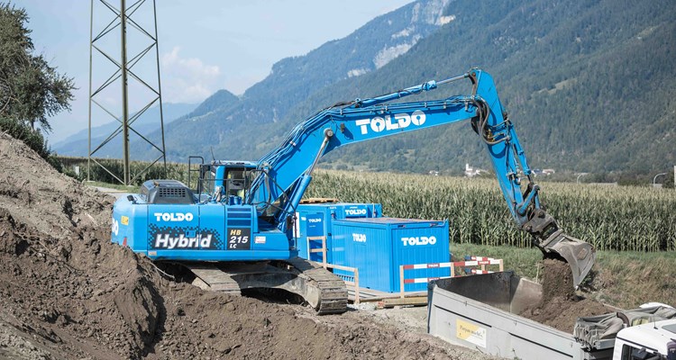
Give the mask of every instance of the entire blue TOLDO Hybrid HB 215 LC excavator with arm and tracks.
[{"label": "entire blue TOLDO Hybrid HB 215 LC excavator with arm and tracks", "polygon": [[[471,94],[402,103],[401,98],[469,79]],[[472,68],[391,94],[337,103],[302,121],[259,161],[199,164],[196,189],[150,180],[114,203],[112,239],[155,261],[187,267],[206,289],[284,289],[316,311],[345,311],[345,284],[297,257],[295,213],[319,159],[335,148],[456,121],[470,121],[486,145],[507,208],[544,257],[571,266],[578,286],[595,261],[589,243],[566,235],[540,203],[540,187],[496,92],[493,78]],[[189,184],[189,182],[188,182]]]}]

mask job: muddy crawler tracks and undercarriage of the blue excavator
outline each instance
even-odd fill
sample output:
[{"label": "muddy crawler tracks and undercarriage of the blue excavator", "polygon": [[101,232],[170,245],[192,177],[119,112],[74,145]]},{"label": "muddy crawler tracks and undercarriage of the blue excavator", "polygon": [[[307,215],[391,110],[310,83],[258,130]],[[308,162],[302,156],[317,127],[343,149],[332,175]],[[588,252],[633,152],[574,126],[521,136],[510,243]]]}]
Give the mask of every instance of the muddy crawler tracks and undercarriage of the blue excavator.
[{"label": "muddy crawler tracks and undercarriage of the blue excavator", "polygon": [[338,276],[315,262],[296,257],[254,263],[186,263],[193,284],[209,291],[241,293],[243,289],[283,289],[301,296],[317,314],[347,311],[347,288]]}]

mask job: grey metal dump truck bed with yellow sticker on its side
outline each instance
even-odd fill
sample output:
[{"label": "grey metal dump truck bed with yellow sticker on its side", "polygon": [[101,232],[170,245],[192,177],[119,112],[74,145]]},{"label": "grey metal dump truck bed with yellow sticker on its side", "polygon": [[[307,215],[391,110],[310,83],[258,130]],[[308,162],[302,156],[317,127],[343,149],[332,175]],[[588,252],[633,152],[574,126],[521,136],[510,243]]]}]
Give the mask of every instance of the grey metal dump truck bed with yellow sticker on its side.
[{"label": "grey metal dump truck bed with yellow sticker on its side", "polygon": [[541,297],[540,284],[513,272],[438,280],[428,290],[427,331],[453,344],[508,358],[612,358],[613,341],[587,349],[572,334],[517,315]]}]

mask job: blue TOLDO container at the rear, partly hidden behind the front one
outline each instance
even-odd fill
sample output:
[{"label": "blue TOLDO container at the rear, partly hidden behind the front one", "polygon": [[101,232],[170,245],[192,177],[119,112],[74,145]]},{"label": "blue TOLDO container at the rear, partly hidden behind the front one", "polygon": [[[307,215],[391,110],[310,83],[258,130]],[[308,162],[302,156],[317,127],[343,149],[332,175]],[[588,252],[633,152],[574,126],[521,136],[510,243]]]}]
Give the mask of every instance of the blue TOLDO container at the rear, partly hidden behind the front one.
[{"label": "blue TOLDO container at the rear, partly hidden behind the front one", "polygon": [[382,205],[379,203],[301,203],[296,210],[296,247],[298,257],[322,262],[322,253],[311,253],[310,249],[321,248],[321,241],[308,241],[307,238],[326,237],[326,262],[332,263],[331,224],[333,220],[379,218],[382,216]]}]

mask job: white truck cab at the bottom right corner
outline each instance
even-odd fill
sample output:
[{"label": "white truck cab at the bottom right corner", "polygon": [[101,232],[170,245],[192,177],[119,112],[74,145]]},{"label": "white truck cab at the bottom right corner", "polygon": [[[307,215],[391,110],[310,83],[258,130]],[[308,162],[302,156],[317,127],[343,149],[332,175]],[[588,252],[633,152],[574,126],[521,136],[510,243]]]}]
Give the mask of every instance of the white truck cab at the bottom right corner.
[{"label": "white truck cab at the bottom right corner", "polygon": [[646,322],[620,330],[613,360],[676,360],[676,320]]}]

